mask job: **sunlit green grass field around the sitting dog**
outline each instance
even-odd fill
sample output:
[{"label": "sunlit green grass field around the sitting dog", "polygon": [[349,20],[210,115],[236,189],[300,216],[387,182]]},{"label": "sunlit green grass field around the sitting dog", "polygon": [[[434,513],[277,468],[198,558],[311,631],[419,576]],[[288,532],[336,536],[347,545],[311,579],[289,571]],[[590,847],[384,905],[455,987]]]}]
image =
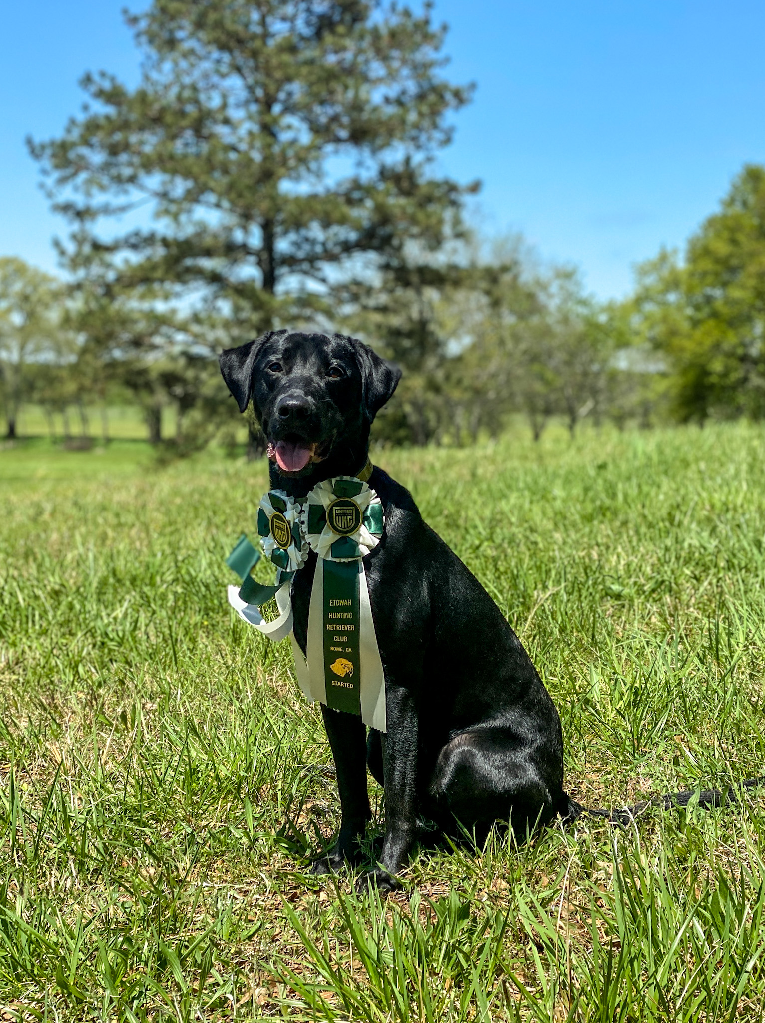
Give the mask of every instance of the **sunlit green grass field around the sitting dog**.
[{"label": "sunlit green grass field around the sitting dog", "polygon": [[[765,773],[762,429],[377,460],[530,651],[574,798]],[[321,716],[225,603],[265,483],[0,452],[0,1019],[761,1019],[765,793],[420,849],[384,902],[308,875]]]}]

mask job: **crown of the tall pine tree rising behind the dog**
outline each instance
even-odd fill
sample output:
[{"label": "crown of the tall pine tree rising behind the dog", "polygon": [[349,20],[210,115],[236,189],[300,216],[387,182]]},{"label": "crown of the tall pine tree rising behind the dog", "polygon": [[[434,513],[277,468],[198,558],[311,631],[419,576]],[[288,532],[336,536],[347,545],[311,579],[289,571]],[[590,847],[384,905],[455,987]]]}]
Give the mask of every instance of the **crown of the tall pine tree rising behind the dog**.
[{"label": "crown of the tall pine tree rising behind the dog", "polygon": [[86,76],[91,108],[32,143],[74,272],[160,283],[246,337],[332,316],[340,279],[440,244],[464,189],[430,162],[470,90],[440,74],[430,4],[153,0],[129,23],[140,85]]}]

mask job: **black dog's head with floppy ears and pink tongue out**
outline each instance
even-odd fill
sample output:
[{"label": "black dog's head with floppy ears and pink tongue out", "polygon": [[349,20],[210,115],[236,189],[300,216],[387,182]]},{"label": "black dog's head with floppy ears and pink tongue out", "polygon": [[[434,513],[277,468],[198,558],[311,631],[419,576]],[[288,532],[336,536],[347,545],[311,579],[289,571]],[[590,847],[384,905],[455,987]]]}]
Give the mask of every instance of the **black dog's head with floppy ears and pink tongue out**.
[{"label": "black dog's head with floppy ears and pink tongue out", "polygon": [[339,451],[357,452],[360,443],[366,450],[370,424],[401,375],[339,333],[270,330],[223,352],[220,362],[239,411],[252,399],[269,457],[285,476],[306,475]]}]

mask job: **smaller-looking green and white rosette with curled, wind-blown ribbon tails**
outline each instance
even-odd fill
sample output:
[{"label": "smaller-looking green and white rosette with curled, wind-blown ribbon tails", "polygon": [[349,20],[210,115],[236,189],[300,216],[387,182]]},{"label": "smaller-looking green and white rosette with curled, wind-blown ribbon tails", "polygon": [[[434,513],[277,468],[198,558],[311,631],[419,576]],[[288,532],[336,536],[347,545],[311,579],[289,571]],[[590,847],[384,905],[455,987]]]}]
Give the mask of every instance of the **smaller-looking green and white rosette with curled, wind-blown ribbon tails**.
[{"label": "smaller-looking green and white rosette with curled, wind-blown ribbon tails", "polygon": [[[276,586],[264,586],[250,576],[260,555],[246,536],[240,536],[226,560],[229,568],[242,580],[241,586],[229,586],[229,604],[243,621],[274,641],[283,639],[292,631],[292,577],[302,568],[308,553],[300,529],[300,518],[299,504],[282,490],[270,490],[260,499],[257,532],[264,553],[277,568]],[[272,597],[276,597],[279,617],[267,622],[260,608]]]}]

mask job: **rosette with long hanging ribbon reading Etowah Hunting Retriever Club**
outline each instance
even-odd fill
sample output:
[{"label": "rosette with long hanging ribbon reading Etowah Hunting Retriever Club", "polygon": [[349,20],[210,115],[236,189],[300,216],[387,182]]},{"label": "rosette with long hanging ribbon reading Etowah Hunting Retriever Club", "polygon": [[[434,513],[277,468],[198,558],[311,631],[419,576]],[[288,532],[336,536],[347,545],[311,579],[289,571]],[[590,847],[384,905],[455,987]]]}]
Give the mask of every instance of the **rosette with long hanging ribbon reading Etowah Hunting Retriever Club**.
[{"label": "rosette with long hanging ribbon reading Etowah Hunting Retriever Club", "polygon": [[362,559],[380,542],[383,525],[380,498],[356,477],[324,480],[310,491],[302,526],[318,559],[307,664],[295,653],[298,679],[307,672],[312,699],[361,714],[380,731],[386,730],[385,676]]}]

